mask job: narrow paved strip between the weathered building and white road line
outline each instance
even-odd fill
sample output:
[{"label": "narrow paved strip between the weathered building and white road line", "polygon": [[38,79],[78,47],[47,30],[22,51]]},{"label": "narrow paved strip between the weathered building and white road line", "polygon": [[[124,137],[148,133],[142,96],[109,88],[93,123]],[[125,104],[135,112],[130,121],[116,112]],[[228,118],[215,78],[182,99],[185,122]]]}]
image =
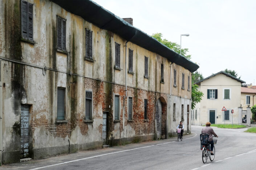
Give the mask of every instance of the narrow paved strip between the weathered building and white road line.
[{"label": "narrow paved strip between the weathered building and white road line", "polygon": [[[190,135],[183,135],[183,140],[186,140],[190,137],[195,136],[195,133],[192,133]],[[114,146],[111,148],[104,148],[104,149],[97,149],[97,150],[86,150],[86,151],[80,151],[77,153],[71,153],[71,154],[64,154],[56,157],[50,157],[42,160],[30,160],[26,162],[19,162],[19,163],[11,163],[7,165],[2,165],[0,169],[6,169],[6,170],[30,170],[30,169],[36,169],[44,166],[49,166],[57,163],[66,163],[70,161],[77,161],[81,159],[86,158],[92,158],[97,156],[103,156],[106,154],[111,154],[113,152],[123,152],[125,150],[135,149],[135,148],[141,148],[145,146],[150,145],[159,145],[164,144],[172,141],[177,141],[177,137],[171,137],[170,139],[163,139],[158,141],[147,141],[143,143],[134,143],[134,144],[128,144],[128,145],[122,145],[122,146]],[[178,141],[177,141],[178,142]],[[47,169],[46,167],[44,169]]]}]

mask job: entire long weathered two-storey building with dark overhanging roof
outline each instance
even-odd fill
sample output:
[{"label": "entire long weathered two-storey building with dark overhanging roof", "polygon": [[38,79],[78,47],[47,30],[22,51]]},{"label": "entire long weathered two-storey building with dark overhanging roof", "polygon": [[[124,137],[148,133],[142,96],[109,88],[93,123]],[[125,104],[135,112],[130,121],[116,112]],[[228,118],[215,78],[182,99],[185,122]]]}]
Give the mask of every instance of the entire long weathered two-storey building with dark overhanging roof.
[{"label": "entire long weathered two-storey building with dark overhanging roof", "polygon": [[1,0],[3,163],[167,138],[180,120],[190,133],[198,65],[76,2]]}]

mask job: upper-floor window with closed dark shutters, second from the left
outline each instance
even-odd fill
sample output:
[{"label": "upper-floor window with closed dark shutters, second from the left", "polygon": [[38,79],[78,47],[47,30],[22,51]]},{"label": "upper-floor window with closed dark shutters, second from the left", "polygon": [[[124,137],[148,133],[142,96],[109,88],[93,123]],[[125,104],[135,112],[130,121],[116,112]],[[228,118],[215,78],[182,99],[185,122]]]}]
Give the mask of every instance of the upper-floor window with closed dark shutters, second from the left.
[{"label": "upper-floor window with closed dark shutters, second from the left", "polygon": [[57,48],[66,51],[66,19],[57,16]]}]

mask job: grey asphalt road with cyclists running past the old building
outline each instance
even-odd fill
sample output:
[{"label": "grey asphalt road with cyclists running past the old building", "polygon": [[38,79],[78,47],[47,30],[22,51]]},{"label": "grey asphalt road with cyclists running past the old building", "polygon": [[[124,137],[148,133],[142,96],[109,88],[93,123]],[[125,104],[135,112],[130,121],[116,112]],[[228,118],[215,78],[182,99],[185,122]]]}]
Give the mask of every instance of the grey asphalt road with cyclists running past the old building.
[{"label": "grey asphalt road with cyclists running past the old building", "polygon": [[192,134],[178,142],[175,138],[113,148],[78,152],[44,160],[3,165],[0,169],[255,169],[256,134],[242,129],[214,128],[218,137],[214,161],[202,162],[199,134],[202,127],[192,126]]}]

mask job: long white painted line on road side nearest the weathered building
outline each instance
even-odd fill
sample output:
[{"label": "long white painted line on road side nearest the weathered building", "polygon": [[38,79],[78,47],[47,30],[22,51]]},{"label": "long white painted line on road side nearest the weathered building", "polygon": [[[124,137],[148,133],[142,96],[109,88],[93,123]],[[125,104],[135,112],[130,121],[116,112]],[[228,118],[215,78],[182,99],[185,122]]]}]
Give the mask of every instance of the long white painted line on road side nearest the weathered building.
[{"label": "long white painted line on road side nearest the weathered building", "polygon": [[96,157],[100,157],[100,156],[110,155],[110,154],[114,154],[114,153],[121,153],[121,152],[130,151],[130,150],[148,148],[148,147],[151,147],[151,146],[158,146],[158,145],[169,144],[169,143],[173,143],[173,142],[174,142],[174,141],[166,142],[166,143],[162,143],[162,144],[157,144],[157,145],[143,146],[143,147],[140,147],[140,148],[127,149],[127,150],[122,150],[122,151],[118,151],[118,152],[111,152],[111,153],[101,154],[101,155],[92,156],[92,157],[88,157],[88,158],[82,158],[82,159],[79,159],[79,160],[73,160],[73,161],[68,161],[68,162],[62,162],[62,163],[57,163],[57,164],[53,164],[53,165],[48,165],[48,166],[42,166],[42,167],[30,169],[30,170],[37,170],[37,169],[42,169],[42,168],[46,168],[46,167],[57,166],[57,165],[62,165],[62,164],[66,164],[66,163],[77,162],[77,161],[81,161],[81,160],[87,160],[87,159],[90,159],[90,158],[96,158]]}]

